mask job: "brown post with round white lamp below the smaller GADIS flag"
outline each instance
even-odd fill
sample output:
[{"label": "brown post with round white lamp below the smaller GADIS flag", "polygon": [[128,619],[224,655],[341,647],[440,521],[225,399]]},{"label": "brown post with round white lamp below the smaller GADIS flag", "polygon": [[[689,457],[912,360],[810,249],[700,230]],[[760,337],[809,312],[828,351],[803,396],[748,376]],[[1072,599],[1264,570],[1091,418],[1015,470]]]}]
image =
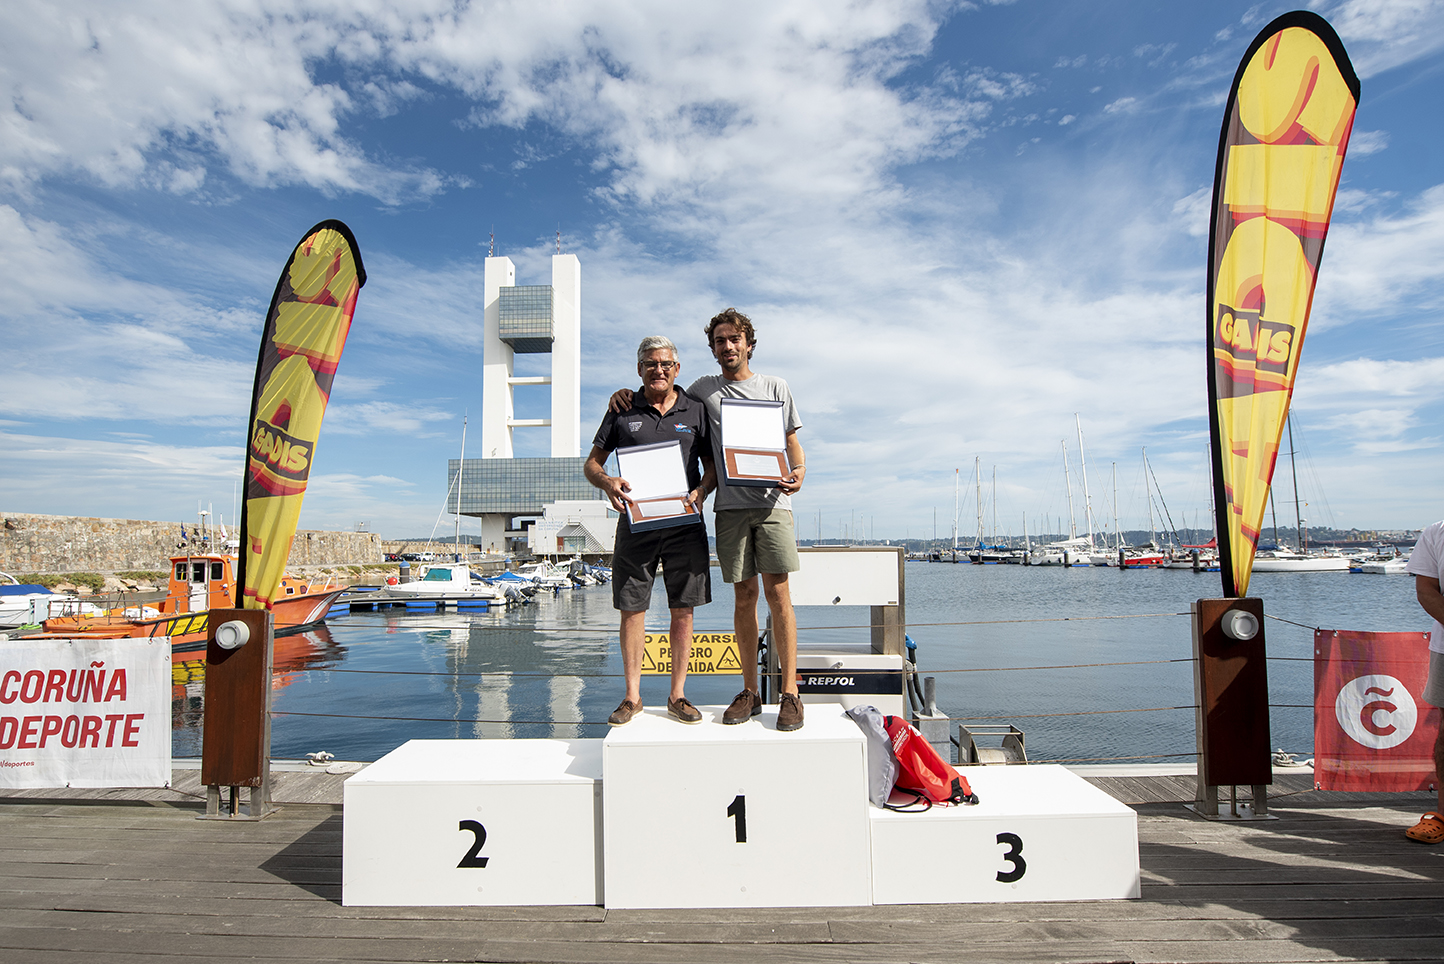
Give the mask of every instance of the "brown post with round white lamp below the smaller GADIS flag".
[{"label": "brown post with round white lamp below the smaller GADIS flag", "polygon": [[[206,621],[199,820],[250,823],[279,808],[270,785],[273,622],[266,609],[212,609]],[[250,807],[241,811],[241,788]],[[225,788],[222,805],[221,789]]]}]

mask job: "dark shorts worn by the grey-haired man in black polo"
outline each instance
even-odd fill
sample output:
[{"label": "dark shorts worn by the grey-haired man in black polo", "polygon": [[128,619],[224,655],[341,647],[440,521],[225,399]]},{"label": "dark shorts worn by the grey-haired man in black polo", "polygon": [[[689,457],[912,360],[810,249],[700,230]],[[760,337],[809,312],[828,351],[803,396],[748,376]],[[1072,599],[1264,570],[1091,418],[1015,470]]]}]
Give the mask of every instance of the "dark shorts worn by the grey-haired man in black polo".
[{"label": "dark shorts worn by the grey-haired man in black polo", "polygon": [[650,608],[657,563],[661,563],[669,609],[708,605],[712,602],[708,557],[708,528],[702,522],[634,533],[627,517],[621,517],[612,550],[612,606],[622,612]]}]

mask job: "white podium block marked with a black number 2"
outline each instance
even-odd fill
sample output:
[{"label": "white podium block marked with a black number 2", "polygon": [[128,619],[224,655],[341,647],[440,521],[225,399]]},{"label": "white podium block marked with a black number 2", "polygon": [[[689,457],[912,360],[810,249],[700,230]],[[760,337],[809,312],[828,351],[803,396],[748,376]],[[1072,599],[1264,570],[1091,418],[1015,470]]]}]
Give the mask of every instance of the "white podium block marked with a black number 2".
[{"label": "white podium block marked with a black number 2", "polygon": [[347,906],[602,903],[601,740],[410,740],[345,782]]}]

